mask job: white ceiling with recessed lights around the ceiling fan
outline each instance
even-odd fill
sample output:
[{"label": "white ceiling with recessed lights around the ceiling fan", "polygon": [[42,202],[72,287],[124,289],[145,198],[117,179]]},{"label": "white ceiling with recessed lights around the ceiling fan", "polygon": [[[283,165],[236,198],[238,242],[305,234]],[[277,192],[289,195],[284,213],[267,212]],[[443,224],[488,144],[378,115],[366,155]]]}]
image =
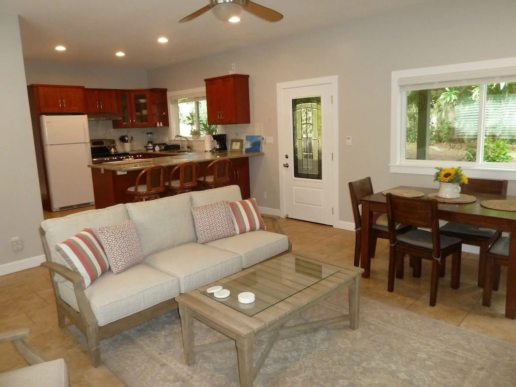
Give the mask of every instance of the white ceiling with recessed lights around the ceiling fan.
[{"label": "white ceiling with recessed lights around the ceiling fan", "polygon": [[[211,12],[178,23],[209,0],[2,0],[0,11],[20,15],[27,60],[154,68],[434,1],[255,0],[285,18],[269,23],[243,12],[237,24]],[[158,43],[160,36],[169,42]],[[60,44],[67,50],[57,52]]]}]

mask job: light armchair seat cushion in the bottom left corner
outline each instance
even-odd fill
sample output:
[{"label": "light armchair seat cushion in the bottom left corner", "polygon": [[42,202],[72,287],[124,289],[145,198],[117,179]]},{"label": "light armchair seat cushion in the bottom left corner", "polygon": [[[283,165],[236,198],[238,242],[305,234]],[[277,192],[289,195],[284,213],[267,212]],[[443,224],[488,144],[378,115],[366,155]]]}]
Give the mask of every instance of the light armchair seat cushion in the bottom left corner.
[{"label": "light armchair seat cushion in the bottom left corner", "polygon": [[68,387],[68,368],[63,359],[39,363],[0,374],[0,385],[9,387]]}]

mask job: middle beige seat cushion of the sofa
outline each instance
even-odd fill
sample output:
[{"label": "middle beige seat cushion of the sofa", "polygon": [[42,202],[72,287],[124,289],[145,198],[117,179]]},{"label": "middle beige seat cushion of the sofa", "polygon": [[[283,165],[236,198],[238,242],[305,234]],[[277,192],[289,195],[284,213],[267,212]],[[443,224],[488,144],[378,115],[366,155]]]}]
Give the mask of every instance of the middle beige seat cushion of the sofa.
[{"label": "middle beige seat cushion of the sofa", "polygon": [[240,255],[187,243],[145,257],[145,263],[179,278],[181,293],[220,280],[242,269]]}]

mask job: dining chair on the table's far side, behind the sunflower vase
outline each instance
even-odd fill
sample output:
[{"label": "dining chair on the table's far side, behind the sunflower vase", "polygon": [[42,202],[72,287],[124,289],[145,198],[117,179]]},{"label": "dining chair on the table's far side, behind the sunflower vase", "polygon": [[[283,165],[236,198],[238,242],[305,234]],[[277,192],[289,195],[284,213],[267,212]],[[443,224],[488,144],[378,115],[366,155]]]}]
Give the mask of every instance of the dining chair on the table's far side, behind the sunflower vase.
[{"label": "dining chair on the table's far side, behind the sunflower vase", "polygon": [[[475,192],[507,195],[507,180],[468,179],[468,183],[461,187],[462,193],[468,195],[474,195]],[[483,287],[486,273],[486,253],[489,246],[502,236],[502,231],[476,227],[472,224],[448,222],[441,227],[441,234],[460,238],[465,245],[480,248],[477,284]]]}]

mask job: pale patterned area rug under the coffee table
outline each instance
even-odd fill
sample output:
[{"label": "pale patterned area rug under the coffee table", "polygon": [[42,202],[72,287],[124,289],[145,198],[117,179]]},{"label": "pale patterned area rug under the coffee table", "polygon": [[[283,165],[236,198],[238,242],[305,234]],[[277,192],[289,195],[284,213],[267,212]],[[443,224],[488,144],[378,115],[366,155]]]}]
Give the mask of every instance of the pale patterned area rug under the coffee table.
[{"label": "pale patterned area rug under the coffee table", "polygon": [[[347,294],[317,305],[289,325],[342,314]],[[82,343],[85,337],[71,331]],[[225,338],[199,321],[196,344]],[[268,337],[257,341],[255,361]],[[236,349],[197,354],[184,363],[177,312],[101,343],[102,361],[130,387],[237,387]],[[360,328],[347,322],[278,340],[254,386],[478,386],[516,383],[516,346],[361,298]]]}]

